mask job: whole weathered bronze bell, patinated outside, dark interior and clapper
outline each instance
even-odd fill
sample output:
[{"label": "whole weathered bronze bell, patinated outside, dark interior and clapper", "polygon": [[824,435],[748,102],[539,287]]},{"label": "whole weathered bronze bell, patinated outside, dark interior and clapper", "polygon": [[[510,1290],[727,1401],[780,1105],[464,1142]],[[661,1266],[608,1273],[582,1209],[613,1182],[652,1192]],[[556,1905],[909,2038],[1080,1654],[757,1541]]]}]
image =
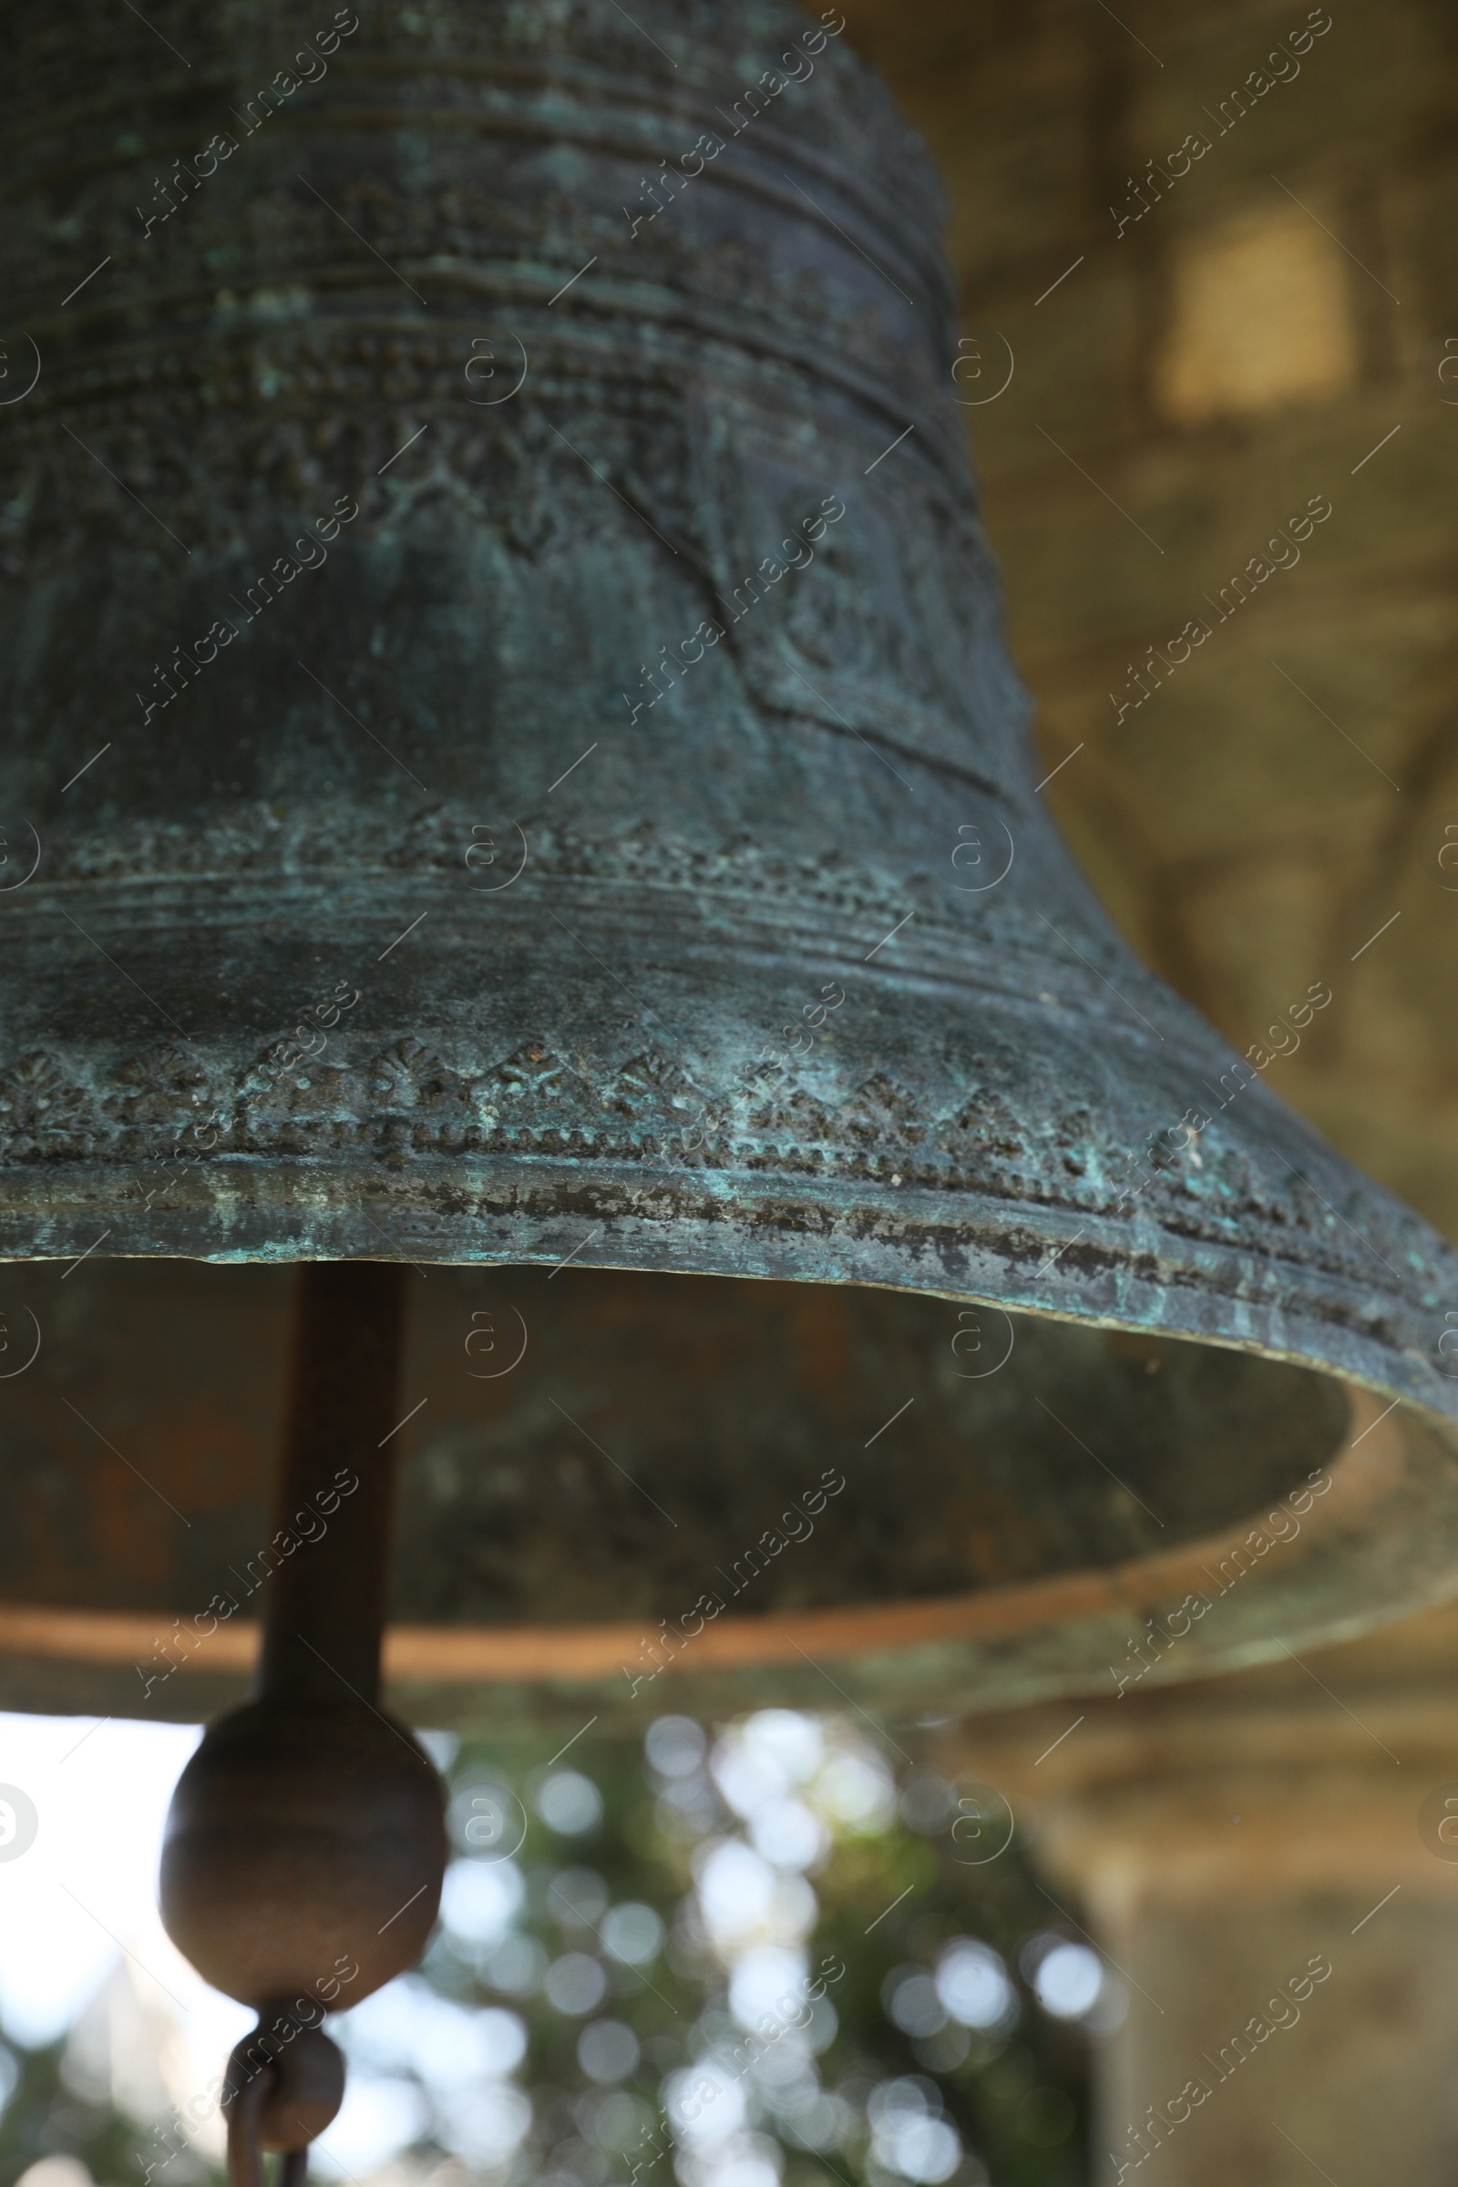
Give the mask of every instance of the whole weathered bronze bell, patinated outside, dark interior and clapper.
[{"label": "whole weathered bronze bell, patinated outside, dark interior and clapper", "polygon": [[[1333,986],[1239,1059],[1069,864],[835,11],[11,15],[0,1699],[238,1699],[258,1592],[247,1890],[339,1736],[413,1951],[339,1592],[391,1459],[418,1721],[986,1708],[1449,1592],[1454,1255],[1263,1085]],[[313,1271],[286,1406],[289,1262],[402,1290]],[[256,1721],[179,1796],[205,1966]]]}]

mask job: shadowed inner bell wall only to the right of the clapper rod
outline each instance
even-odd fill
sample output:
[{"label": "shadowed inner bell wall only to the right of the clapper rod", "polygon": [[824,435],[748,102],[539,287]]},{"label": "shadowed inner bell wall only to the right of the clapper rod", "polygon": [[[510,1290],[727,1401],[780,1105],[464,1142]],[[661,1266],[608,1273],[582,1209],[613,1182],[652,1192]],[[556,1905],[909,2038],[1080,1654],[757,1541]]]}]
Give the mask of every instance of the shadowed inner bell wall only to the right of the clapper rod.
[{"label": "shadowed inner bell wall only to the right of the clapper rod", "polygon": [[999,1308],[590,1268],[428,1282],[411,1623],[682,1616],[702,1592],[763,1614],[1121,1564],[1285,1494],[1347,1432],[1307,1369]]}]

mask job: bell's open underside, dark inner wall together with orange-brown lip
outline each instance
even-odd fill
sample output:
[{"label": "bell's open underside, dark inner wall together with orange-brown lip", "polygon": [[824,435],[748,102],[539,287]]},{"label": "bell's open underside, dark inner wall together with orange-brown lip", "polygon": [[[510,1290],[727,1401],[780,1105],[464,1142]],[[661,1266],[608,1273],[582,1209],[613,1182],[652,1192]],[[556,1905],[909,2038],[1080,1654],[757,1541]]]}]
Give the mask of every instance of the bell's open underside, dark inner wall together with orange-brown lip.
[{"label": "bell's open underside, dark inner wall together with orange-brown lip", "polygon": [[[0,1380],[0,1706],[212,1712],[328,1524],[267,1516],[291,1273],[11,1266],[0,1295],[55,1332]],[[407,1295],[385,1675],[415,1721],[1115,1693],[1451,1592],[1441,1424],[1287,1358],[571,1264]]]}]

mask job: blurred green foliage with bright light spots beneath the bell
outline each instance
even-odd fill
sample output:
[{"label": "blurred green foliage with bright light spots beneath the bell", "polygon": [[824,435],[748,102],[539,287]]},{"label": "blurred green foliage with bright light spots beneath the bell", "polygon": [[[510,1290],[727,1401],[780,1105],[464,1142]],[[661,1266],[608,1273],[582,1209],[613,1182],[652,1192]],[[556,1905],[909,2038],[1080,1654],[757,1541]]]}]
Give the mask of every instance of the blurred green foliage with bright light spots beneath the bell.
[{"label": "blurred green foliage with bright light spots beneath the bell", "polygon": [[[1117,2019],[1117,1977],[997,1796],[844,1719],[774,1710],[717,1736],[658,1719],[647,1745],[581,1739],[560,1767],[455,1754],[446,1918],[393,1999],[334,2025],[352,2080],[418,2091],[393,2178],[1080,2187],[1089,2027]],[[1038,1979],[1056,1944],[1062,1999]],[[450,2067],[457,2025],[479,2069]],[[63,2043],[9,2056],[0,2187],[46,2156],[98,2187],[219,2187],[168,2121],[83,2100]]]}]

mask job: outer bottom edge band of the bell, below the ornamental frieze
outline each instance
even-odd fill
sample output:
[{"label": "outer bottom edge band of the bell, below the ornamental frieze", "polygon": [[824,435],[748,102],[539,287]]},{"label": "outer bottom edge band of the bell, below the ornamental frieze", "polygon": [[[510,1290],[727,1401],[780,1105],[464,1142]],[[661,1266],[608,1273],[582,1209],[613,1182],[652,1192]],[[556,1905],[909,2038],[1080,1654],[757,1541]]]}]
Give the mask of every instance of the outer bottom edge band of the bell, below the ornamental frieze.
[{"label": "outer bottom edge band of the bell, below the ornamental frieze", "polygon": [[[1075,1209],[1067,1205],[896,1179],[815,1179],[769,1166],[588,1168],[553,1155],[385,1155],[372,1159],[365,1179],[339,1157],[214,1155],[179,1181],[173,1207],[142,1209],[140,1220],[127,1212],[125,1247],[118,1181],[127,1166],[68,1161],[66,1203],[57,1201],[55,1170],[13,1166],[0,1183],[0,1262],[571,1262],[630,1275],[855,1284],[1312,1367],[1451,1426],[1458,1373],[1436,1365],[1447,1356],[1438,1284],[1458,1255],[1421,1216],[1309,1137],[1329,1168],[1355,1181],[1373,1205],[1386,1203],[1425,1249],[1410,1290],[1357,1284],[1298,1255],[1277,1260],[1242,1240],[1183,1238],[1143,1212],[1124,1227],[1089,1212],[1073,1227]],[[658,1205],[645,1209],[654,1196]],[[1084,1260],[1097,1258],[1093,1275],[1069,1262],[1073,1247]],[[927,1266],[933,1253],[940,1264]],[[951,1277],[951,1255],[962,1260],[960,1279]],[[1377,1314],[1386,1314],[1388,1332],[1364,1332],[1362,1323]],[[1432,1317],[1438,1330],[1432,1358],[1416,1343],[1419,1317]]]}]

